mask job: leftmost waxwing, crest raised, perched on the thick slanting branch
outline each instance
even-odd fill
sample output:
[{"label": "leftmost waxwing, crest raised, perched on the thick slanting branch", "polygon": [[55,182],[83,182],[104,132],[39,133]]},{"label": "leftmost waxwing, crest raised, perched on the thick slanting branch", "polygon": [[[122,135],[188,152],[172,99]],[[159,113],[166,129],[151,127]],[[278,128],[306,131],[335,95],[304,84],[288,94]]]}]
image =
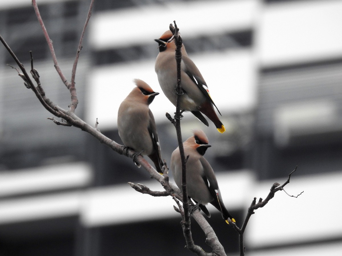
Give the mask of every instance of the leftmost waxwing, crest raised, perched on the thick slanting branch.
[{"label": "leftmost waxwing, crest raised, perched on the thick slanting branch", "polygon": [[123,144],[135,152],[147,155],[155,164],[156,170],[162,174],[163,161],[160,156],[160,145],[156,123],[148,105],[154,100],[156,93],[140,79],[134,79],[136,87],[122,101],[118,111],[118,130]]}]

